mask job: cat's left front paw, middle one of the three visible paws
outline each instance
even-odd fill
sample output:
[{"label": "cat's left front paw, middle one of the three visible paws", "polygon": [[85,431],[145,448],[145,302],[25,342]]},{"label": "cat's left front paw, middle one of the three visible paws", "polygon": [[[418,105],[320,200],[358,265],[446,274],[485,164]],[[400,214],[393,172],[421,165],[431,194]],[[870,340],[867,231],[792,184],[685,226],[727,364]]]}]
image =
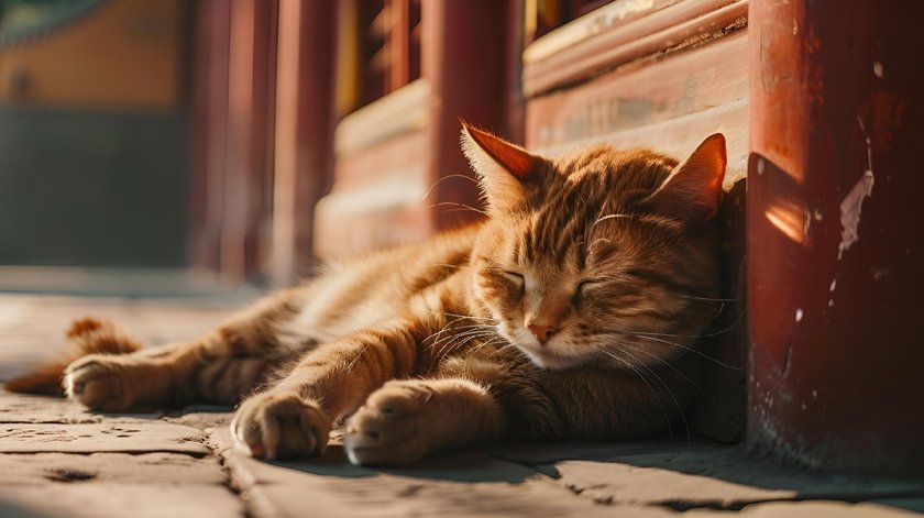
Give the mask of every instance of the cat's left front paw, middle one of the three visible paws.
[{"label": "cat's left front paw, middle one of the three visible paws", "polygon": [[257,459],[320,454],[330,438],[330,419],[320,407],[293,392],[268,392],[241,404],[231,433]]}]

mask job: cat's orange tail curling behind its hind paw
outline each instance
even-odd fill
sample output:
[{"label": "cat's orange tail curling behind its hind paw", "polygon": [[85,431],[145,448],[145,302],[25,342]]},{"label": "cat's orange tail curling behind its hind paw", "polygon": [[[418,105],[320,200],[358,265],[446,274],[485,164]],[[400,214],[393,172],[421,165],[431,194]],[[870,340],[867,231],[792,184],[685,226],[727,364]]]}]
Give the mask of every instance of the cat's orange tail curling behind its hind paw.
[{"label": "cat's orange tail curling behind its hind paw", "polygon": [[111,322],[84,318],[75,320],[67,331],[68,346],[57,359],[3,386],[7,390],[22,394],[64,396],[62,381],[67,366],[88,354],[128,354],[141,349],[141,344],[119,332]]}]

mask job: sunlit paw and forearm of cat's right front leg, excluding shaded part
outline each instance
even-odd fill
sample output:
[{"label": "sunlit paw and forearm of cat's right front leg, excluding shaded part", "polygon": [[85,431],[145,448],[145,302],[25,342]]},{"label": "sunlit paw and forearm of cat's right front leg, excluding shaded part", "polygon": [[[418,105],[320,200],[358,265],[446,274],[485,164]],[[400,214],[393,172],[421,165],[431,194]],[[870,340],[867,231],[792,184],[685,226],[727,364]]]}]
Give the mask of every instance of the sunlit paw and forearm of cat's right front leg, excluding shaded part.
[{"label": "sunlit paw and forearm of cat's right front leg, excluding shaded part", "polygon": [[464,378],[389,382],[346,427],[353,464],[399,465],[429,453],[496,441],[505,416],[480,384]]}]

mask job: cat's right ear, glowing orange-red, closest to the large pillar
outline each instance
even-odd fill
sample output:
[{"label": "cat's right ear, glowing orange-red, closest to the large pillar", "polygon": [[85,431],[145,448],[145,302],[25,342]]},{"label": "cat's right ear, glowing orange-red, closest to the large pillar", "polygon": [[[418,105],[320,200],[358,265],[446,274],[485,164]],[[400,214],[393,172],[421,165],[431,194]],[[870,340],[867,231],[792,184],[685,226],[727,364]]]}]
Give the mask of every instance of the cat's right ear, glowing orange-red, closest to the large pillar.
[{"label": "cat's right ear, glowing orange-red, closest to the large pillar", "polygon": [[641,203],[690,227],[704,227],[718,212],[727,162],[725,136],[711,135]]}]

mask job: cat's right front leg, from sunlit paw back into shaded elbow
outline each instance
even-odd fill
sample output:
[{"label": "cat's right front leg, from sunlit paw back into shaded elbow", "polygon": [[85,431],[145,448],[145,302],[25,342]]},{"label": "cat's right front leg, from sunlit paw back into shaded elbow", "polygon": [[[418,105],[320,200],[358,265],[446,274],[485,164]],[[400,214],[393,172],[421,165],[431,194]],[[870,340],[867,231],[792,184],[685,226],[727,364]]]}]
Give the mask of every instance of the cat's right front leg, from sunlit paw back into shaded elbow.
[{"label": "cat's right front leg, from sunlit paw back into shaded elbow", "polygon": [[346,427],[350,461],[407,464],[432,452],[502,439],[651,437],[666,431],[671,418],[662,400],[681,411],[686,396],[678,378],[690,382],[680,371],[675,377],[660,372],[661,393],[631,371],[544,371],[522,359],[506,364],[450,360],[438,374],[447,377],[391,382],[372,394]]}]

